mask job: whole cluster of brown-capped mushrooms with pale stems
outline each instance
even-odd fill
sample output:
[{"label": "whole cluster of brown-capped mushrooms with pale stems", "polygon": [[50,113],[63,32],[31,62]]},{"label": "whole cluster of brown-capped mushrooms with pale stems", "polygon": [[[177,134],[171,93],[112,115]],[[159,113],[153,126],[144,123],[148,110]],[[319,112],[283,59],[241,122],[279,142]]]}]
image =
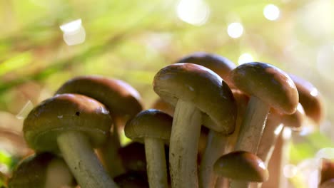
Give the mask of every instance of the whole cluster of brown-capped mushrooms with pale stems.
[{"label": "whole cluster of brown-capped mushrooms with pale stems", "polygon": [[[150,109],[122,80],[88,75],[61,85],[24,120],[36,154],[8,187],[50,187],[50,173],[63,179],[51,183],[59,187],[261,187],[283,128],[302,130],[304,120],[318,125],[323,117],[313,85],[268,63],[236,66],[193,53],[152,81],[159,98]],[[35,174],[24,176],[26,168]]]}]

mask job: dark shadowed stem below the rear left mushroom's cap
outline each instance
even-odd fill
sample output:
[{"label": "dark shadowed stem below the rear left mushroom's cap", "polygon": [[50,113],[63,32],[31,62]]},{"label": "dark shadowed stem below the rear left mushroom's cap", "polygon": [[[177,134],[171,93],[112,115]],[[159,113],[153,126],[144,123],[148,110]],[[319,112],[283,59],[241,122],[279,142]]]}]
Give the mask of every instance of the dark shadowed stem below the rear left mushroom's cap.
[{"label": "dark shadowed stem below the rear left mushroom's cap", "polygon": [[101,158],[103,166],[111,177],[116,177],[126,172],[122,165],[118,149],[121,147],[119,127],[124,125],[125,120],[121,117],[113,117],[113,130],[107,141],[98,148],[98,156]]}]

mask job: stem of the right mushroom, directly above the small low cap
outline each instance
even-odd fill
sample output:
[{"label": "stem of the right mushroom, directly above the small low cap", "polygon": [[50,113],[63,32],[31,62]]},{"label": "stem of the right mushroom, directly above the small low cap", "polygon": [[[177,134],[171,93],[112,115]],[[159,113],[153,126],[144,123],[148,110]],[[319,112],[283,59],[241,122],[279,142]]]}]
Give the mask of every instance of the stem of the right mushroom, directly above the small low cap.
[{"label": "stem of the right mushroom, directly above the small low cap", "polygon": [[269,112],[269,105],[255,96],[251,96],[241,123],[235,150],[256,153],[265,127],[265,120]]}]

